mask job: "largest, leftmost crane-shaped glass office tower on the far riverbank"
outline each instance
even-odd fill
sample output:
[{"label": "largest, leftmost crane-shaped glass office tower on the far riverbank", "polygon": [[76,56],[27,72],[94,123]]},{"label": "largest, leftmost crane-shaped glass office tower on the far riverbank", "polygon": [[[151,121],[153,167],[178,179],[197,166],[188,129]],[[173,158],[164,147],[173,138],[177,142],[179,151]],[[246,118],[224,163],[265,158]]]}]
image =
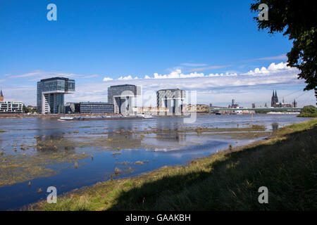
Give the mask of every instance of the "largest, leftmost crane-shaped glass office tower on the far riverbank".
[{"label": "largest, leftmost crane-shaped glass office tower on the far riverbank", "polygon": [[53,77],[37,82],[37,113],[64,113],[64,95],[75,91],[75,80]]}]

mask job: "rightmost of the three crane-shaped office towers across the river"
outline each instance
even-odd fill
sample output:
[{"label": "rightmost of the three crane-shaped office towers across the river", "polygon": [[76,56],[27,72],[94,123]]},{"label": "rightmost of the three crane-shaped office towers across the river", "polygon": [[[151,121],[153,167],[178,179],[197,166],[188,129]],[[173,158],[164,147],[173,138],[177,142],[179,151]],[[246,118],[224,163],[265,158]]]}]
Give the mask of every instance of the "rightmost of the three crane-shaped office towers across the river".
[{"label": "rightmost of the three crane-shaped office towers across the river", "polygon": [[183,112],[183,101],[186,92],[180,89],[162,89],[156,91],[158,108],[168,108],[170,114],[180,115]]}]

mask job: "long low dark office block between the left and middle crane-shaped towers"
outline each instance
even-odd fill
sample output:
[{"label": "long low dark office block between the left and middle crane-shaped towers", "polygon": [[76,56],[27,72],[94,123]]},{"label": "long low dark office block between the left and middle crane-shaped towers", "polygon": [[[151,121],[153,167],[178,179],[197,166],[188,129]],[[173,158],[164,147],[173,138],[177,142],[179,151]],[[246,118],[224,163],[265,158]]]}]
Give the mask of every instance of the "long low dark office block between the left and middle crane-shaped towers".
[{"label": "long low dark office block between the left and middle crane-shaped towers", "polygon": [[113,113],[113,104],[75,103],[75,113]]}]

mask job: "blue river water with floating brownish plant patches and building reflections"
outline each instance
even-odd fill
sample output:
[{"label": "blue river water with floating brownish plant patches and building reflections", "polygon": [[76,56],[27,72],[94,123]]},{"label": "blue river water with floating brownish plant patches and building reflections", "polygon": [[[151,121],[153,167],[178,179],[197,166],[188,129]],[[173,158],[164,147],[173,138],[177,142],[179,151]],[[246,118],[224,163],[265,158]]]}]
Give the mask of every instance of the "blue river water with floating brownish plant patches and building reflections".
[{"label": "blue river water with floating brownish plant patches and building reflections", "polygon": [[[254,115],[252,121],[251,115],[199,115],[192,124],[184,123],[183,117],[0,119],[0,210],[14,210],[46,199],[49,186],[56,186],[61,195],[99,181],[185,165],[194,158],[227,149],[229,144],[242,146],[304,120],[296,115],[265,114]],[[263,129],[244,135],[248,132],[244,128],[252,124]],[[198,134],[194,131],[197,127],[211,132]]]}]

